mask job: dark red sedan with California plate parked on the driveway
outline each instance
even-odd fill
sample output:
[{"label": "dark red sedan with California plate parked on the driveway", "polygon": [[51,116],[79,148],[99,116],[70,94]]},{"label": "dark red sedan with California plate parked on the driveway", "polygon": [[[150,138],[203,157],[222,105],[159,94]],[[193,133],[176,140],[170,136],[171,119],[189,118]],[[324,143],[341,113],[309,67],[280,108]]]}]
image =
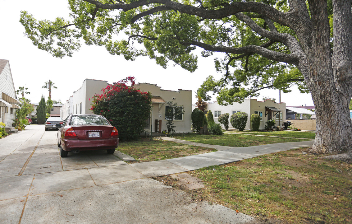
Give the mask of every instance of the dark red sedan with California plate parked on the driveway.
[{"label": "dark red sedan with California plate parked on the driveway", "polygon": [[101,115],[70,115],[56,127],[60,128],[57,146],[61,157],[67,157],[71,151],[85,150],[107,150],[108,154],[113,154],[119,145],[119,132]]}]

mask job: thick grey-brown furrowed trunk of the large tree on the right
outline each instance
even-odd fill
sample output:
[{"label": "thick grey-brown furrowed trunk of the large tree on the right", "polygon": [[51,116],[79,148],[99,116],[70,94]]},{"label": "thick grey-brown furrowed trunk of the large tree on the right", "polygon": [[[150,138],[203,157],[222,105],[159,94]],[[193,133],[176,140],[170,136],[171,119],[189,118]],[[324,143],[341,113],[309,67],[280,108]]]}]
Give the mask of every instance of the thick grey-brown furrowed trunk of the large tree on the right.
[{"label": "thick grey-brown furrowed trunk of the large tree on the right", "polygon": [[[312,93],[316,113],[316,137],[309,152],[346,151],[347,158],[351,159],[352,125],[348,108],[352,95],[352,53],[348,49],[352,42],[351,0],[333,2],[334,15],[343,15],[334,16],[333,55],[330,51],[327,4],[316,0],[308,2],[311,8],[312,39],[303,43],[307,67],[302,65],[300,69]],[[336,9],[343,12],[337,12]],[[344,50],[346,47],[347,50]]]}]

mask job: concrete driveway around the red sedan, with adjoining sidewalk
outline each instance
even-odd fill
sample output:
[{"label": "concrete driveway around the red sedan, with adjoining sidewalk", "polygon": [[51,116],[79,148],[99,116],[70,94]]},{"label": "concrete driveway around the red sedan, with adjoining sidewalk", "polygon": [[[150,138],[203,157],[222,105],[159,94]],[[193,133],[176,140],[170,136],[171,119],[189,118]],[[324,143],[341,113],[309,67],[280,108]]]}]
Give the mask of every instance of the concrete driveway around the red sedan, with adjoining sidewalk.
[{"label": "concrete driveway around the red sedan, with adjoining sidewalk", "polygon": [[106,151],[61,158],[56,144],[56,131],[44,125],[0,139],[1,224],[257,223],[149,178],[225,163],[219,155],[130,165]]}]

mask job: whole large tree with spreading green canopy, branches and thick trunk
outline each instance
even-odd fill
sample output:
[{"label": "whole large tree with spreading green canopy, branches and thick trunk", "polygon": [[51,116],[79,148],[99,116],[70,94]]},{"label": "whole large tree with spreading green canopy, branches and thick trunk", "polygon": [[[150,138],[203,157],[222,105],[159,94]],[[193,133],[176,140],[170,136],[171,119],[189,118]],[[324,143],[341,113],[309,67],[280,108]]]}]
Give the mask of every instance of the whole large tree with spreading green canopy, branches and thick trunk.
[{"label": "whole large tree with spreading green canopy, branches and thick trunk", "polygon": [[352,155],[346,110],[352,96],[351,0],[68,2],[70,19],[37,20],[21,12],[25,35],[39,49],[61,58],[84,41],[126,60],[149,56],[164,68],[173,61],[191,72],[196,47],[205,57],[222,53],[214,59],[222,77],[209,76],[202,96],[216,92],[219,104],[231,104],[264,88],[289,92],[297,84],[312,93],[316,108],[310,152]]}]

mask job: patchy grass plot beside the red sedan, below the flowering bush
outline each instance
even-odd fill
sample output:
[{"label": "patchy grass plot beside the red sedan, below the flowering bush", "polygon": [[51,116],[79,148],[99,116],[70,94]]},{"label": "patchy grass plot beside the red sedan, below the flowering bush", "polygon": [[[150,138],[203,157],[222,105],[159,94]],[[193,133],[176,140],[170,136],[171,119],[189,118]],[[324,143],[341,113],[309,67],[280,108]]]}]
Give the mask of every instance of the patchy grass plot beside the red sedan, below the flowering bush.
[{"label": "patchy grass plot beside the red sedan, below the flowering bush", "polygon": [[151,141],[149,138],[142,138],[138,141],[120,142],[116,150],[132,156],[137,162],[157,161],[218,151],[158,139]]}]

